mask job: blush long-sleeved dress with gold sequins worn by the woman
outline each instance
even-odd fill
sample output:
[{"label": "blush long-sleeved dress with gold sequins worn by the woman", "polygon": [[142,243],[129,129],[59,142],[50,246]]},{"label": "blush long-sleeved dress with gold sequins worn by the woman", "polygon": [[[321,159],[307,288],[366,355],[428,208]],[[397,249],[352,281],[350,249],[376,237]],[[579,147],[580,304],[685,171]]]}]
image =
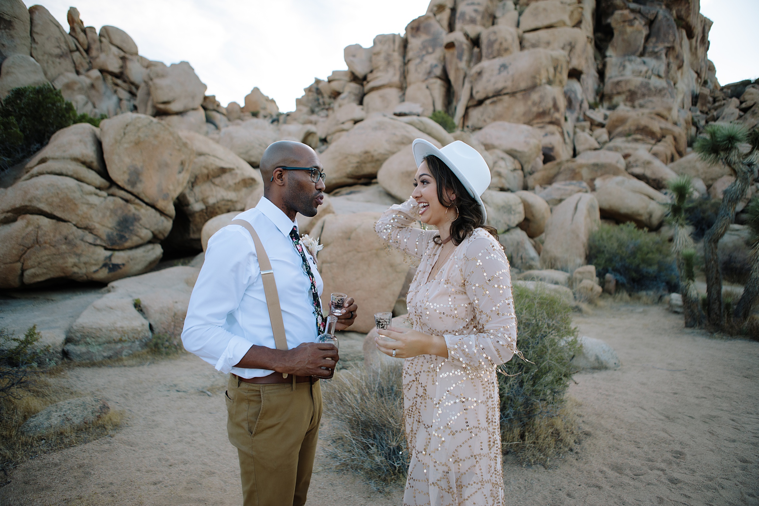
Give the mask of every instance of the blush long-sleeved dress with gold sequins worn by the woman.
[{"label": "blush long-sleeved dress with gold sequins worn by the woman", "polygon": [[428,279],[442,246],[413,228],[414,199],[376,223],[379,237],[420,259],[406,298],[414,330],[442,335],[449,357],[404,360],[406,438],[411,452],[404,504],[503,504],[496,366],[515,353],[517,322],[509,261],[477,228]]}]

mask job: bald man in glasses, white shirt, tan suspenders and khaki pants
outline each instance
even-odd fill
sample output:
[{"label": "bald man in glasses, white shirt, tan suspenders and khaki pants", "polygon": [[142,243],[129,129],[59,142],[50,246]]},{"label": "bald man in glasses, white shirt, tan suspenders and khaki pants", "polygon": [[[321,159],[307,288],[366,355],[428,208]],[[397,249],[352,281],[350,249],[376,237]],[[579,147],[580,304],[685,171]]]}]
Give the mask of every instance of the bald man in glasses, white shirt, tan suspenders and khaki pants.
[{"label": "bald man in glasses, white shirt, tan suspenders and khaki pants", "polygon": [[[269,256],[288,350],[276,349],[256,248],[241,225],[209,239],[182,341],[229,373],[227,431],[238,448],[243,504],[291,506],[306,503],[322,416],[319,379],[332,378],[340,358],[334,344],[316,342],[326,319],[323,283],[316,259],[298,248],[295,222],[298,212],[317,214],[324,174],[313,149],[286,140],[266,148],[260,170],[263,197],[235,219],[253,226]],[[354,322],[356,309],[345,301],[337,330]]]}]

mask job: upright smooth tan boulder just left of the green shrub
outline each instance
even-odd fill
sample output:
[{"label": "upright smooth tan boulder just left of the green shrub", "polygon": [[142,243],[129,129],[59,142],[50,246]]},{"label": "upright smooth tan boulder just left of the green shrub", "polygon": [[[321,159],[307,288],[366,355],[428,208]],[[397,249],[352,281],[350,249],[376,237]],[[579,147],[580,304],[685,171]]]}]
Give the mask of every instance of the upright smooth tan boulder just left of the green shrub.
[{"label": "upright smooth tan boulder just left of the green shrub", "polygon": [[587,264],[587,240],[600,224],[596,197],[575,193],[553,209],[546,224],[540,265],[572,272]]}]

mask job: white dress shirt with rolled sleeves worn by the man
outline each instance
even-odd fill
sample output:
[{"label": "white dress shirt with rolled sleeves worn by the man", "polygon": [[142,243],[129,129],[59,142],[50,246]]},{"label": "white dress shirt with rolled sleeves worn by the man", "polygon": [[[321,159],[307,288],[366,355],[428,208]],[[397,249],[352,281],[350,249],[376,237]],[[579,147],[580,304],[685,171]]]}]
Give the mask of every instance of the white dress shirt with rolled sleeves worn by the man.
[{"label": "white dress shirt with rolled sleeves worn by the man", "polygon": [[[290,238],[290,231],[298,225],[266,197],[235,219],[253,225],[272,262],[288,348],[315,342],[317,320],[311,283]],[[313,257],[306,256],[321,295],[322,278]],[[256,247],[241,225],[228,225],[209,239],[184,319],[182,342],[187,351],[221,372],[243,378],[273,372],[234,367],[254,344],[276,348]]]}]

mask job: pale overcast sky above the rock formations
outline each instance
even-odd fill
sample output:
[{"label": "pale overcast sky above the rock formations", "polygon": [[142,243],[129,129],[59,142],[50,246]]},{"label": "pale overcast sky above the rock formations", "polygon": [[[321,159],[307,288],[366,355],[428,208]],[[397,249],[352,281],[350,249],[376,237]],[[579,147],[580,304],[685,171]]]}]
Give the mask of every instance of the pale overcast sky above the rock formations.
[{"label": "pale overcast sky above the rock formations", "polygon": [[[68,31],[72,0],[43,0]],[[33,5],[26,2],[27,6]],[[137,42],[140,55],[166,64],[189,61],[208,90],[243,102],[254,86],[282,112],[334,70],[343,48],[369,47],[379,33],[404,33],[429,0],[75,0],[85,26],[109,24]],[[720,83],[759,77],[759,0],[701,0],[714,21],[709,57]]]}]

